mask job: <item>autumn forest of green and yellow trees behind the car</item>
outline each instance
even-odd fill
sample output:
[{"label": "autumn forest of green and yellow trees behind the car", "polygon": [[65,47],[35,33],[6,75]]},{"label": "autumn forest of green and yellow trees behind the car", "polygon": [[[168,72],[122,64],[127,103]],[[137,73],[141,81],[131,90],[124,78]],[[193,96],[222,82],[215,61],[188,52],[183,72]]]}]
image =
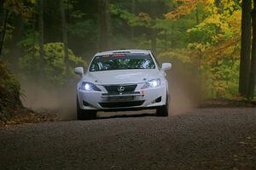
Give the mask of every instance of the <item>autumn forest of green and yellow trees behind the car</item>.
[{"label": "autumn forest of green and yellow trees behind the car", "polygon": [[2,71],[1,89],[67,89],[96,52],[143,48],[200,99],[255,99],[251,0],[1,0],[0,13],[1,65],[15,75]]}]

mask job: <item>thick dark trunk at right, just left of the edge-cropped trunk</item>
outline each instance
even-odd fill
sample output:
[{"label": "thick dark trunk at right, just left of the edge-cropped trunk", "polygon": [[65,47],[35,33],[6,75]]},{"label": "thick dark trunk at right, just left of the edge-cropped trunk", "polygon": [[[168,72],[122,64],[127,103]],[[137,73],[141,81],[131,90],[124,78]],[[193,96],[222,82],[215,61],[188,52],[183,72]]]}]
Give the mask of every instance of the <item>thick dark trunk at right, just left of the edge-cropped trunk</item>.
[{"label": "thick dark trunk at right, just left of the edge-cropped trunk", "polygon": [[252,1],[242,1],[241,14],[241,59],[239,76],[239,94],[246,97],[249,80],[250,54],[251,54],[251,10]]}]

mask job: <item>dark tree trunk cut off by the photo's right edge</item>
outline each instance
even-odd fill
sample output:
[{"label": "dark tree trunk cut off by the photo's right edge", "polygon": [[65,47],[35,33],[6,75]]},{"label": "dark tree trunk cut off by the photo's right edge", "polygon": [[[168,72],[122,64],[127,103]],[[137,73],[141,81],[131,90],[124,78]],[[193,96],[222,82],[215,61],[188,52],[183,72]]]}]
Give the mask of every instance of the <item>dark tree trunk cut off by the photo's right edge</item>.
[{"label": "dark tree trunk cut off by the photo's right edge", "polygon": [[248,99],[253,99],[254,90],[255,90],[255,82],[256,82],[256,0],[254,0],[252,11],[252,19],[253,19],[253,45],[252,45],[252,59],[251,59],[251,71],[249,77],[249,88],[248,88]]}]

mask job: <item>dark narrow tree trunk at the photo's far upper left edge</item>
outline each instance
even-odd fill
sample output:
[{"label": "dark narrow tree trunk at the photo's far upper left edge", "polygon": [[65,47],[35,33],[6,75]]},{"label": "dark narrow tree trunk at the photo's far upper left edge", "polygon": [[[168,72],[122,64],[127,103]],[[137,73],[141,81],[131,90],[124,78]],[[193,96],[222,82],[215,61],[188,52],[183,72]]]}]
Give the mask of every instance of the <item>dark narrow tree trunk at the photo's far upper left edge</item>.
[{"label": "dark narrow tree trunk at the photo's far upper left edge", "polygon": [[4,9],[4,0],[0,0],[0,59],[2,58],[3,42],[8,19],[8,11]]}]

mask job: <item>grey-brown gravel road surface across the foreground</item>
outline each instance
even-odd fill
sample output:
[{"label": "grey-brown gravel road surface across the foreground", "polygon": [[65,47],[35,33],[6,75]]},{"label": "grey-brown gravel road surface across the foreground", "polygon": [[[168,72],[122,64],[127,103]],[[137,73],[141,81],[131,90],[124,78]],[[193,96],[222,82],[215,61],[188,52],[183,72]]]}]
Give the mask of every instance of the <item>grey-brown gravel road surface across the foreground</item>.
[{"label": "grey-brown gravel road surface across the foreground", "polygon": [[253,134],[255,108],[8,127],[0,169],[256,169]]}]

